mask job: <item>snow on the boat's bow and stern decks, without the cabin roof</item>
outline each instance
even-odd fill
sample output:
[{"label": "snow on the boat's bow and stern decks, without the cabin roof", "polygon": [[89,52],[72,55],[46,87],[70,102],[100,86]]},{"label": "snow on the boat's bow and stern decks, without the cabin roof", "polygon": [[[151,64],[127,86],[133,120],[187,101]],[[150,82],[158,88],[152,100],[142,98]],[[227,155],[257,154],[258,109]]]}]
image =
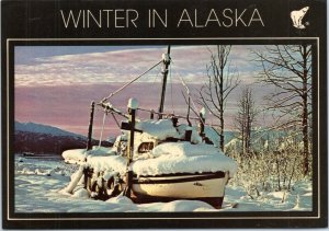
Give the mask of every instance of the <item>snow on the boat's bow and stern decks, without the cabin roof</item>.
[{"label": "snow on the boat's bow and stern decks, without the cabin roof", "polygon": [[[95,172],[114,171],[124,174],[127,160],[125,157],[115,155],[112,151],[102,152],[94,150],[97,154],[86,155],[81,149],[69,150],[66,154],[71,158],[87,158],[87,164]],[[77,157],[75,157],[77,155]],[[150,153],[143,154],[147,159],[139,159],[135,154],[132,164],[137,175],[161,175],[170,173],[201,173],[201,172],[229,172],[232,176],[237,172],[237,164],[226,157],[217,148],[205,145],[192,145],[190,142],[167,142],[157,146]]]}]

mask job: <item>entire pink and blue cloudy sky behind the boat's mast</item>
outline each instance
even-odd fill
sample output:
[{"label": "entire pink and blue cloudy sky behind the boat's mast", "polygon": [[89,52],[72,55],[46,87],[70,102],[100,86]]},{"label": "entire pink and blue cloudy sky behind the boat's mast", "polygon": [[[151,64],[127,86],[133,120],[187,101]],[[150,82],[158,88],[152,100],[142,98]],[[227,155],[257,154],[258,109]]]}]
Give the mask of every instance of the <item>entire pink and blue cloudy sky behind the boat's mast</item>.
[{"label": "entire pink and blue cloudy sky behind the boat's mast", "polygon": [[[72,132],[87,135],[91,101],[99,102],[160,60],[167,47],[136,47],[107,50],[71,51],[70,47],[18,47],[15,50],[15,120],[52,125]],[[75,50],[77,47],[73,47]],[[73,50],[73,48],[71,48]],[[61,50],[63,49],[63,50]],[[206,46],[172,48],[172,71],[167,86],[164,111],[185,115],[182,97],[184,88],[179,77],[191,89],[198,89],[206,80],[209,51]],[[254,66],[250,65],[248,47],[236,46],[231,51],[234,71],[242,84],[254,81]],[[58,53],[55,55],[55,51]],[[54,54],[53,54],[54,53]],[[66,54],[68,53],[68,54]],[[78,53],[78,54],[76,54]],[[39,55],[42,54],[42,55]],[[46,55],[45,55],[46,54]],[[241,68],[242,67],[242,68]],[[239,69],[240,68],[240,69]],[[111,103],[125,111],[129,97],[136,97],[143,108],[158,109],[160,67],[138,83],[121,92]],[[258,86],[257,100],[261,103],[263,90]],[[236,100],[240,91],[232,92],[227,103],[227,128],[232,129]],[[172,99],[172,100],[171,100]],[[196,99],[194,99],[196,100]],[[172,108],[172,104],[174,107]],[[201,106],[200,106],[201,107]],[[200,108],[201,109],[201,108]],[[99,137],[103,113],[95,112],[94,136]],[[209,117],[208,123],[213,122]],[[218,124],[214,122],[215,124]],[[113,118],[107,117],[104,136],[117,135]]]}]

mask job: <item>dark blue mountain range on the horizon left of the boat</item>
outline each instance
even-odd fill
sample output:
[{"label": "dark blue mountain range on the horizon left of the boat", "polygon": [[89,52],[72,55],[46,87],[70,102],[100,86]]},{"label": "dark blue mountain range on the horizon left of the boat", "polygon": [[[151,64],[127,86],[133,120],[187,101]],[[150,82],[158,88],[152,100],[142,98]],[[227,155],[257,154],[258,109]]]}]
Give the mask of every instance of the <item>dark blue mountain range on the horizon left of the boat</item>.
[{"label": "dark blue mountain range on the horizon left of the boat", "polygon": [[[14,129],[15,153],[61,154],[68,149],[87,147],[87,137],[47,125],[15,122]],[[93,146],[98,143],[98,140],[92,140]],[[109,147],[112,143],[102,141],[102,145]]]}]

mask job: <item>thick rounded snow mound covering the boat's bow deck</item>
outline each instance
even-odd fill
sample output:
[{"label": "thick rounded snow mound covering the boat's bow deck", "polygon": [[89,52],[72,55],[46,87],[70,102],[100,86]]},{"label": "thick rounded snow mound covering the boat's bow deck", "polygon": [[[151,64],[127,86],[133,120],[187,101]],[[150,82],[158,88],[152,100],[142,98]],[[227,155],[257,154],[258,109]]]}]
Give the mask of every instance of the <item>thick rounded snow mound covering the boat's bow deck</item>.
[{"label": "thick rounded snow mound covering the boat's bow deck", "polygon": [[157,146],[151,153],[154,159],[133,163],[137,175],[228,171],[232,176],[237,172],[236,162],[209,145],[169,142]]}]

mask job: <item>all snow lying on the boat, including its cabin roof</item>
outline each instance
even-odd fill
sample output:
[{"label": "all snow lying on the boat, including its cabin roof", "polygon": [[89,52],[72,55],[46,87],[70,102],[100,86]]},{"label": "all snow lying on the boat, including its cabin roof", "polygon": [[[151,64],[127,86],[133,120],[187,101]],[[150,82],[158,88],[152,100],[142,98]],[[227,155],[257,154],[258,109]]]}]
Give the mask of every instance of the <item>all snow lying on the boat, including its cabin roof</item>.
[{"label": "all snow lying on the boat, including its cabin roof", "polygon": [[[137,175],[161,175],[171,173],[202,173],[202,172],[229,172],[231,177],[237,172],[236,162],[226,157],[218,148],[202,142],[195,127],[179,125],[174,127],[171,119],[143,120],[136,124],[136,129],[143,134],[136,135],[134,162],[132,169]],[[186,130],[192,130],[191,142],[168,142],[167,138],[183,140]],[[145,139],[145,138],[151,139]],[[92,150],[69,150],[63,153],[65,159],[87,160],[87,164],[94,171],[114,171],[123,174],[127,169],[126,157],[116,153],[120,139],[112,149],[93,147]],[[151,151],[138,153],[138,146],[145,140],[162,141]]]}]

